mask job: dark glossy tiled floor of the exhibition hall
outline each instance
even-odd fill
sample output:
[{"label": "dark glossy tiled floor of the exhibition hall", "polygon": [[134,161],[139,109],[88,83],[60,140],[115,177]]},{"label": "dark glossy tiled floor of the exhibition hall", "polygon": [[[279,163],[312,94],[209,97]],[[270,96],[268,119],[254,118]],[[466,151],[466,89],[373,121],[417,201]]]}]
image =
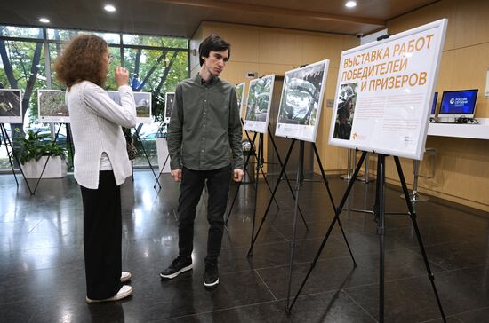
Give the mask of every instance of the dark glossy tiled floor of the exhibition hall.
[{"label": "dark glossy tiled floor of the exhibition hall", "polygon": [[[84,302],[83,219],[72,176],[43,180],[35,196],[0,175],[0,322],[376,322],[379,236],[373,217],[344,212],[341,220],[357,260],[353,268],[336,226],[292,315],[285,314],[293,199],[280,186],[253,256],[247,257],[253,221],[253,186],[244,185],[229,220],[220,256],[220,286],[203,286],[206,243],[204,202],[197,211],[194,270],[175,280],[158,273],[177,254],[178,185],[167,175],[163,189],[138,170],[123,185],[123,267],[132,272],[134,295],[118,303]],[[275,179],[271,180],[275,183]],[[346,183],[330,177],[336,203]],[[358,182],[350,209],[372,209],[375,183]],[[233,191],[234,192],[234,191]],[[204,198],[205,200],[205,198]],[[259,185],[260,221],[269,193]],[[333,209],[325,186],[301,187],[309,225],[297,224],[293,293],[309,270]],[[405,201],[388,186],[388,212]],[[489,215],[437,199],[417,206],[421,234],[448,322],[489,321]],[[385,321],[441,322],[421,251],[407,216],[389,216],[385,236]]]}]

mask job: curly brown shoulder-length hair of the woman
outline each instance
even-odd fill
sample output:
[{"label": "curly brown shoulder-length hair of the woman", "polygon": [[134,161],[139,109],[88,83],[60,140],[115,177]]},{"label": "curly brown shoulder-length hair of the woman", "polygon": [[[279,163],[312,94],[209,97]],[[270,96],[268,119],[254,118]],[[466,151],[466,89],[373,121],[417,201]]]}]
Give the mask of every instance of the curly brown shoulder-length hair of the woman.
[{"label": "curly brown shoulder-length hair of the woman", "polygon": [[108,51],[107,42],[97,35],[77,35],[72,38],[54,63],[56,78],[68,89],[81,81],[103,86],[107,68],[103,57]]}]

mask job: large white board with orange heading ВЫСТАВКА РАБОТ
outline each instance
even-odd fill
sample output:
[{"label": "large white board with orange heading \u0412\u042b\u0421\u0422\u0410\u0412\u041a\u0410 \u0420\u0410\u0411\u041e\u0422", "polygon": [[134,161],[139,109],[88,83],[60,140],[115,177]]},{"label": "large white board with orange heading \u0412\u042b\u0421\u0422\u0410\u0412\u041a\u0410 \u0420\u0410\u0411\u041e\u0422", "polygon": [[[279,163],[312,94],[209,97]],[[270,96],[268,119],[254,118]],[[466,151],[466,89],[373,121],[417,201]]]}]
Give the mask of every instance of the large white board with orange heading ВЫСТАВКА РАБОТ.
[{"label": "large white board with orange heading \u0412\u042b\u0421\u0422\u0410\u0412\u041a\u0410 \u0420\u0410\u0411\u041e\u0422", "polygon": [[446,24],[341,53],[329,144],[422,159]]}]

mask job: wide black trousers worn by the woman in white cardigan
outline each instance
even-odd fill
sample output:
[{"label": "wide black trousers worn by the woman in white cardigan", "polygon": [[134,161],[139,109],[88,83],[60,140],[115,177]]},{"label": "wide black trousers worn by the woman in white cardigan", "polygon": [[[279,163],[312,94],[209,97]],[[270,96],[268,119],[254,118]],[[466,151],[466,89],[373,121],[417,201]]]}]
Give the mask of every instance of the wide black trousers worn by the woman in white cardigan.
[{"label": "wide black trousers worn by the woman in white cardigan", "polygon": [[98,189],[81,188],[86,295],[104,299],[122,288],[121,191],[112,170],[100,171]]}]

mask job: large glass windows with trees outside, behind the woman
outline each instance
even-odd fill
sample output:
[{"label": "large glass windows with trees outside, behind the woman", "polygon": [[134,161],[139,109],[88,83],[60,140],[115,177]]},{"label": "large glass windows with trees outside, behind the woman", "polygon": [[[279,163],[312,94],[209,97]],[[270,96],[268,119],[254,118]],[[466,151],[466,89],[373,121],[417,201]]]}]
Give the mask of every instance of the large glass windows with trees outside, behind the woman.
[{"label": "large glass windows with trees outside, behind the woman", "polygon": [[[46,70],[42,28],[0,26],[0,88],[16,88],[22,91],[22,106],[26,115],[23,124],[5,124],[9,136],[11,136],[10,129],[16,127],[44,131],[54,129],[50,124],[37,123],[37,89],[63,90],[65,88],[55,79],[53,65],[62,51],[63,43],[79,33],[99,35],[108,42],[109,53],[114,59],[109,66],[106,90],[117,90],[114,71],[116,66],[121,65],[123,60],[121,52],[123,52],[124,67],[130,72],[132,89],[151,92],[152,116],[155,122],[139,125],[140,140],[137,138],[132,140],[139,150],[134,165],[148,167],[149,160],[151,165],[156,167],[156,137],[161,133],[164,121],[164,93],[174,91],[176,84],[188,77],[187,39],[46,29],[47,52],[51,63]],[[121,37],[124,40],[122,51]],[[128,47],[124,48],[124,45]],[[51,75],[51,84],[47,83],[46,73]],[[66,133],[67,130],[61,127],[60,134],[66,136]],[[132,134],[135,134],[134,130]],[[10,162],[5,151],[4,137],[0,139],[0,172],[2,172],[10,170]]]}]

